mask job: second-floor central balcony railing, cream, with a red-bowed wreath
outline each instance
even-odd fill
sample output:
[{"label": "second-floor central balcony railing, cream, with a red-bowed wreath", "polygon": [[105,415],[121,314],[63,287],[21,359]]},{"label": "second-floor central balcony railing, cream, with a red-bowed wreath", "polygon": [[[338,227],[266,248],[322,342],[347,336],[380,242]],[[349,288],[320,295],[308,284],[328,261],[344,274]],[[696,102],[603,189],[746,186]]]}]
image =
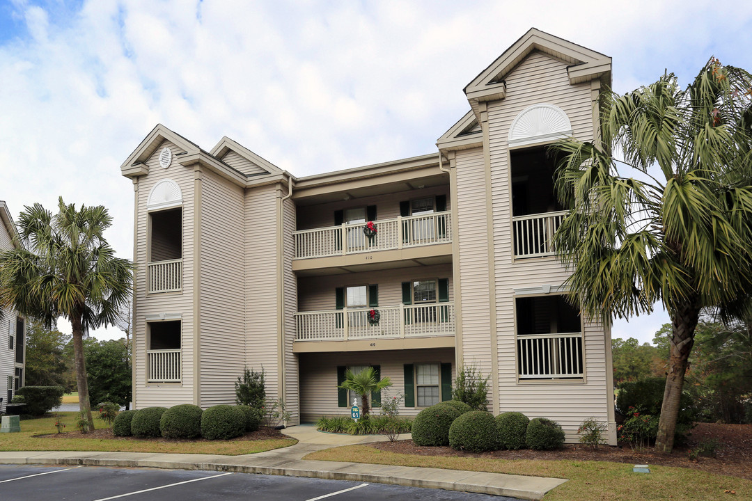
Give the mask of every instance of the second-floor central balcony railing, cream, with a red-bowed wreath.
[{"label": "second-floor central balcony railing, cream, with a red-bowed wreath", "polygon": [[[377,324],[368,312],[377,309]],[[296,313],[297,341],[453,336],[454,304],[431,303]]]}]

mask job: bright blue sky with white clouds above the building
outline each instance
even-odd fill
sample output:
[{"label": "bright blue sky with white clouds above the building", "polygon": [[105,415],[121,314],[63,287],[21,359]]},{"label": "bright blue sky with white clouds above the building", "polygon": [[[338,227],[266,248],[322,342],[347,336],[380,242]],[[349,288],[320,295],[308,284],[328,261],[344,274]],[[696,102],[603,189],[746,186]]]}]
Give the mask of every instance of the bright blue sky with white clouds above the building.
[{"label": "bright blue sky with white clouds above the building", "polygon": [[532,26],[611,56],[620,92],[710,56],[752,70],[752,2],[0,0],[0,200],[104,204],[130,258],[119,166],[156,123],[296,176],[435,152],[462,88]]}]

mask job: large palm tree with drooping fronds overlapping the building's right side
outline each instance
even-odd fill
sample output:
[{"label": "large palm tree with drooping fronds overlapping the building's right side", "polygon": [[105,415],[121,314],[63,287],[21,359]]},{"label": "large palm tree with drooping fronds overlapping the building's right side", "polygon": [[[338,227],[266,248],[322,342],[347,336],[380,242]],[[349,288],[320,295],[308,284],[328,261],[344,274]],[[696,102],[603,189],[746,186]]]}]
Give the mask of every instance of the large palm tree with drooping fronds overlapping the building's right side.
[{"label": "large palm tree with drooping fronds overlapping the building's right side", "polygon": [[686,89],[664,74],[603,92],[600,141],[553,146],[556,192],[571,209],[554,246],[572,300],[606,322],[658,301],[671,317],[660,451],[673,447],[700,309],[729,319],[752,291],[750,99],[750,74],[711,58]]}]

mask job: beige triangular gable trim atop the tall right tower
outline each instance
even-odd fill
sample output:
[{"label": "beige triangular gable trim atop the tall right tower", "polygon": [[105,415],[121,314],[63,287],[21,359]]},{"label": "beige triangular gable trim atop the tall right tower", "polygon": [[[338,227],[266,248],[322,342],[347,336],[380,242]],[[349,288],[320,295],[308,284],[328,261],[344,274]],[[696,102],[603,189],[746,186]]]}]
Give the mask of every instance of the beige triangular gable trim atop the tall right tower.
[{"label": "beige triangular gable trim atop the tall right tower", "polygon": [[474,110],[479,101],[505,98],[504,77],[534,50],[568,63],[569,82],[572,84],[593,80],[611,72],[610,57],[531,28],[465,86],[465,95]]}]

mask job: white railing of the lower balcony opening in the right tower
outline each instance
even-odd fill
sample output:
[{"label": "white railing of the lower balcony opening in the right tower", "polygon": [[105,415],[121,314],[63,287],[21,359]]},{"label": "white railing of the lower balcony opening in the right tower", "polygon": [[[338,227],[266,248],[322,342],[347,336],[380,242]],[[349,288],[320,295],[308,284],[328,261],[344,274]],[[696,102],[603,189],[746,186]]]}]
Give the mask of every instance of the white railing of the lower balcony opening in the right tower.
[{"label": "white railing of the lower balcony opening in the right tower", "polygon": [[581,378],[582,333],[517,336],[520,379]]}]

